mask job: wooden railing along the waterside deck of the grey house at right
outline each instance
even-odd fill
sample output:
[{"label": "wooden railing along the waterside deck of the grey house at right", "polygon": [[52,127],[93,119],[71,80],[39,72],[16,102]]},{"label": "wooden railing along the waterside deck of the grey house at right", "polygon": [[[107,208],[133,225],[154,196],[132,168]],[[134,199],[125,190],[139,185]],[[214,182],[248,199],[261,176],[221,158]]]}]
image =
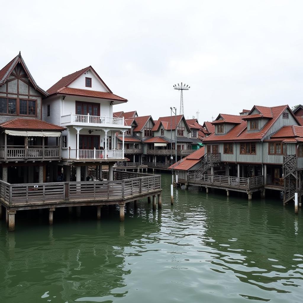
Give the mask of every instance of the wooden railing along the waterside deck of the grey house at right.
[{"label": "wooden railing along the waterside deck of the grey house at right", "polygon": [[201,175],[188,173],[188,182],[201,185],[218,185],[229,188],[254,189],[264,185],[263,176],[252,178],[238,178],[231,176]]}]

